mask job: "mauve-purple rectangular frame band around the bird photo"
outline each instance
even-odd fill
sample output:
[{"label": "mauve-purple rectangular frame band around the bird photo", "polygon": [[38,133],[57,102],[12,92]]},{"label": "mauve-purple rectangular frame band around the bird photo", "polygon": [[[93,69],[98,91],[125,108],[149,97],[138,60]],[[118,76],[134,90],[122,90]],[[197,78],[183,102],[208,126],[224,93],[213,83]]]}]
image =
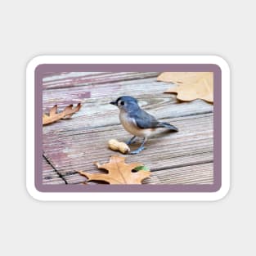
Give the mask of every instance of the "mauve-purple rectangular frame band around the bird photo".
[{"label": "mauve-purple rectangular frame band around the bird photo", "polygon": [[[48,72],[213,72],[212,185],[43,185],[43,74]],[[222,72],[215,64],[42,64],[35,70],[35,187],[42,192],[215,192],[222,185]]]}]

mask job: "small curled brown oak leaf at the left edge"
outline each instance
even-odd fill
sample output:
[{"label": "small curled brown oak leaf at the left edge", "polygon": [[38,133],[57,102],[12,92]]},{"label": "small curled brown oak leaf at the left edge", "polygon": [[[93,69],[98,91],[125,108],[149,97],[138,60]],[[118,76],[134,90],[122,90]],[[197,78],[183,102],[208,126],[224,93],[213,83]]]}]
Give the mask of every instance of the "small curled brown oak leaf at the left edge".
[{"label": "small curled brown oak leaf at the left edge", "polygon": [[43,114],[43,124],[52,124],[61,119],[69,119],[74,113],[78,112],[81,108],[81,103],[73,108],[73,104],[66,106],[64,110],[60,113],[57,113],[58,106],[55,105],[49,111],[49,115]]}]

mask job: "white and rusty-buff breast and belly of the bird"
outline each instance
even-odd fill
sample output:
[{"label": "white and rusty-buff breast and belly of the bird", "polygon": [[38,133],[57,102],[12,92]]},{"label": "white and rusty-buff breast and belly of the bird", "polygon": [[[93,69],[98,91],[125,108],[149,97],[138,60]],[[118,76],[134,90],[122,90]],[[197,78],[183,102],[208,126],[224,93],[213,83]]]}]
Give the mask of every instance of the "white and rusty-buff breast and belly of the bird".
[{"label": "white and rusty-buff breast and belly of the bird", "polygon": [[124,128],[137,137],[149,137],[152,129],[141,129],[137,127],[134,119],[131,119],[124,110],[120,110],[119,119]]}]

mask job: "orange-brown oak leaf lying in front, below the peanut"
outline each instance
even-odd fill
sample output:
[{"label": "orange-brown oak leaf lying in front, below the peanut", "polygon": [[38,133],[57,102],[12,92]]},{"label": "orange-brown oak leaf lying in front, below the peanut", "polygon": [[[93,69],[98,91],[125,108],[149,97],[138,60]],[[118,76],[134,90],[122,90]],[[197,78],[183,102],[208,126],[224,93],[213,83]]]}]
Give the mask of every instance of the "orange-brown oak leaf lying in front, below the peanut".
[{"label": "orange-brown oak leaf lying in front, below the peanut", "polygon": [[132,173],[132,169],[141,166],[141,163],[126,164],[125,157],[112,155],[107,164],[94,163],[97,168],[105,169],[108,173],[86,173],[79,171],[88,181],[105,181],[110,184],[141,184],[141,182],[150,176],[150,171],[138,171]]}]

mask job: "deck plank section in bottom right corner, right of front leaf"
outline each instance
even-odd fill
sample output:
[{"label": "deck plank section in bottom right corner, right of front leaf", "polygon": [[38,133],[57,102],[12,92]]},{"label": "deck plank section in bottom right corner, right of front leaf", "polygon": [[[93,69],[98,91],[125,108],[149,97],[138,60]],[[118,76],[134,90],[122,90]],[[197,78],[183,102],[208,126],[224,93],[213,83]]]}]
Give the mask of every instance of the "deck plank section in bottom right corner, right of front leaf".
[{"label": "deck plank section in bottom right corner, right of front leaf", "polygon": [[152,172],[143,184],[213,184],[213,163]]}]

